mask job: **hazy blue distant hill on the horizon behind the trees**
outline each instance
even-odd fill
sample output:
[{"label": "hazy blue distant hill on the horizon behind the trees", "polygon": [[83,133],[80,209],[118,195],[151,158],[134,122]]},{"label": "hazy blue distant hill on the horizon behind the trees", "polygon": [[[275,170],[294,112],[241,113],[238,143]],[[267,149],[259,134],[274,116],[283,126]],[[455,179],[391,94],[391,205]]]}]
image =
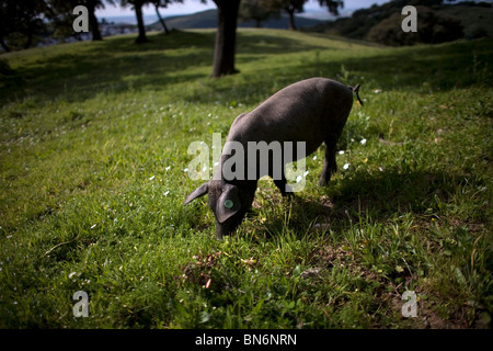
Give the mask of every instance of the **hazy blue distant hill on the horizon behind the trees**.
[{"label": "hazy blue distant hill on the horizon behind the trees", "polygon": [[[169,16],[164,19],[169,29],[191,30],[191,29],[215,29],[217,26],[217,10],[207,10],[187,15]],[[298,27],[309,27],[323,23],[319,20],[295,16],[295,23]],[[254,21],[239,22],[239,27],[254,27]],[[280,15],[279,19],[270,19],[262,23],[266,29],[288,29],[287,15]],[[161,23],[154,22],[148,26],[150,30],[161,31]]]}]

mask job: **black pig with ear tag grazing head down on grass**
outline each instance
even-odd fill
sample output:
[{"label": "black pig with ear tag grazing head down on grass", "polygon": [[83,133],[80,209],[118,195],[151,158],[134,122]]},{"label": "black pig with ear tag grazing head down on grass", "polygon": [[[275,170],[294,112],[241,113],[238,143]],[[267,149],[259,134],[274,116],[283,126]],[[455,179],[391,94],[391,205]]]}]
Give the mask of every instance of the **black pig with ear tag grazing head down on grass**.
[{"label": "black pig with ear tag grazing head down on grass", "polygon": [[[359,84],[352,88],[326,78],[306,79],[282,89],[255,110],[239,115],[231,125],[220,165],[213,180],[193,191],[186,197],[185,204],[208,194],[209,206],[216,216],[217,238],[221,239],[223,235],[232,234],[253,203],[257,180],[265,174],[273,177],[276,167],[274,161],[270,161],[268,167],[260,171],[259,162],[246,165],[246,159],[252,156],[248,155],[249,141],[267,144],[278,141],[280,145],[285,141],[295,145],[305,141],[306,152],[301,157],[314,152],[322,143],[325,143],[325,159],[319,184],[326,184],[337,169],[335,146],[353,105],[353,92],[356,92],[362,103],[357,94]],[[243,146],[245,163],[237,167],[244,167],[244,176],[248,173],[254,177],[231,179],[225,176],[225,162],[234,155],[228,147],[228,141]],[[284,154],[283,147],[280,150]],[[296,148],[294,155],[299,156]],[[293,157],[291,160],[298,158]],[[284,163],[287,162],[284,155],[277,159],[283,160],[283,165],[280,176],[273,177],[274,183],[285,196],[290,194],[284,174]],[[250,173],[252,168],[253,173]]]}]

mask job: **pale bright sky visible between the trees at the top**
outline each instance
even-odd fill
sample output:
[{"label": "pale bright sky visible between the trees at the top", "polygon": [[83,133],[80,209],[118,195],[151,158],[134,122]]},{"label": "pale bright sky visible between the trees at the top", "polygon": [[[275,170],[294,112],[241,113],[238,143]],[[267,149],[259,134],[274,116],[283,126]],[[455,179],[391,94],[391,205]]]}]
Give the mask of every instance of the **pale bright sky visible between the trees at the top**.
[{"label": "pale bright sky visible between the trees at the top", "polygon": [[[388,2],[388,0],[344,0],[344,9],[355,10],[362,8],[369,8],[374,3],[380,4],[385,2]],[[167,18],[170,15],[188,14],[209,9],[216,9],[216,4],[211,0],[208,0],[206,4],[202,3],[200,0],[184,0],[182,4],[174,3],[169,5],[167,9],[160,9],[160,13],[162,16]],[[305,4],[305,10],[306,16],[331,18],[331,15],[325,9],[320,8],[319,2],[317,0],[308,1]],[[153,7],[145,7],[144,13],[153,15],[156,14],[156,10]],[[108,19],[112,16],[124,16],[124,15],[135,15],[135,12],[131,10],[130,7],[128,7],[127,9],[122,9],[119,5],[114,7],[110,4],[107,4],[105,9],[96,10],[98,18]]]}]

